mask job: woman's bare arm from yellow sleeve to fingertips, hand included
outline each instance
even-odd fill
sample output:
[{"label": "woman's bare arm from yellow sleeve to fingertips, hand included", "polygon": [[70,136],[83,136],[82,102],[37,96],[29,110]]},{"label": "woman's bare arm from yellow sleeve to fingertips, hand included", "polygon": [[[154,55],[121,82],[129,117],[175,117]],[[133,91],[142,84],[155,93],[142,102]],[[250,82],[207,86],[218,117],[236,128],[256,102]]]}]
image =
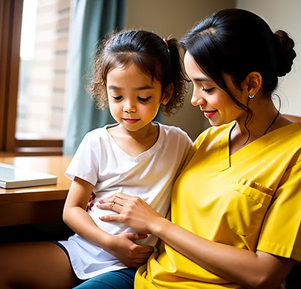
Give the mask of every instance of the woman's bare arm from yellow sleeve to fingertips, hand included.
[{"label": "woman's bare arm from yellow sleeve to fingertips, hand included", "polygon": [[119,221],[138,232],[153,234],[201,267],[246,288],[275,289],[296,262],[202,238],[163,218],[138,197],[117,193],[97,207],[118,213],[101,220]]}]

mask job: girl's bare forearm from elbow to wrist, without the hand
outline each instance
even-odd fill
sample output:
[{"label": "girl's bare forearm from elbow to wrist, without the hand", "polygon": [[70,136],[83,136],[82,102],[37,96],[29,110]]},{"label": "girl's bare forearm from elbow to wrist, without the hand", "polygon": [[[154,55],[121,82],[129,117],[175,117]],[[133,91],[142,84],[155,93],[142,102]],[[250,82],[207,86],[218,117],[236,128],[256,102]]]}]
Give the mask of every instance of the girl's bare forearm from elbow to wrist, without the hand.
[{"label": "girl's bare forearm from elbow to wrist, without the hand", "polygon": [[64,209],[63,220],[75,233],[97,246],[106,247],[111,240],[111,235],[98,228],[81,207]]}]

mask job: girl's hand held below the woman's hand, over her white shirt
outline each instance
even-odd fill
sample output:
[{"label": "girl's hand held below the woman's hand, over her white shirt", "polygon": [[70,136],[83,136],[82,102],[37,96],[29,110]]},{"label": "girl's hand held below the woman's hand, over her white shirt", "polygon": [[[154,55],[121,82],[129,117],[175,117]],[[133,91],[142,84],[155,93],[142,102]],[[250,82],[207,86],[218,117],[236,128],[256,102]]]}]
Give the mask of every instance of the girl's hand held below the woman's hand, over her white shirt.
[{"label": "girl's hand held below the woman's hand, over her white shirt", "polygon": [[138,235],[137,233],[112,235],[110,242],[103,249],[128,267],[140,267],[147,262],[148,257],[154,252],[154,247],[137,245],[133,241],[146,237],[147,235]]}]

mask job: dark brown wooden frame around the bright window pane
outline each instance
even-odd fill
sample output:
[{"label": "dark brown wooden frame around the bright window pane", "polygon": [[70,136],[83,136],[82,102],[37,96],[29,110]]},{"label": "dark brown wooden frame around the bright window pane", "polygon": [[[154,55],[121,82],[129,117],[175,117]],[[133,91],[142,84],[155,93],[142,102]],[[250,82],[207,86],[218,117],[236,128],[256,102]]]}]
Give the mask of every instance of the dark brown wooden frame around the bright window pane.
[{"label": "dark brown wooden frame around the bright window pane", "polygon": [[63,139],[17,139],[16,121],[23,0],[0,0],[0,152],[60,156]]}]

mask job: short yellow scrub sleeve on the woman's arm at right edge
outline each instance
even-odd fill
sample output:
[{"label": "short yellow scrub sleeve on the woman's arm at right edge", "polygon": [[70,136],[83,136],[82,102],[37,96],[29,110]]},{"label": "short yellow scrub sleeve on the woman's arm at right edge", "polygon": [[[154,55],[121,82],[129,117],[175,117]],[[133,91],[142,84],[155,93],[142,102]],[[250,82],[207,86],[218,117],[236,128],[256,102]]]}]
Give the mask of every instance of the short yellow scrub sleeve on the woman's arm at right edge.
[{"label": "short yellow scrub sleeve on the woman's arm at right edge", "polygon": [[285,172],[275,194],[257,250],[301,261],[301,162]]}]

